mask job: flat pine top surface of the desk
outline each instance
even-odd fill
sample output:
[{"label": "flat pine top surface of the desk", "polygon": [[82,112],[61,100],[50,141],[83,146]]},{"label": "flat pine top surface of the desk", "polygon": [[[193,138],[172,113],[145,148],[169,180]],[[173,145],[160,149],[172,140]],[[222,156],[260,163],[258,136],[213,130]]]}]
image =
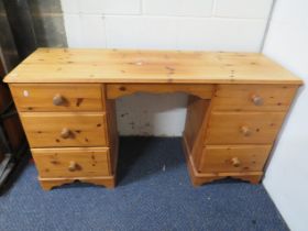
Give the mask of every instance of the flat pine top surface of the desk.
[{"label": "flat pine top surface of the desk", "polygon": [[295,84],[257,53],[38,48],[6,82]]}]

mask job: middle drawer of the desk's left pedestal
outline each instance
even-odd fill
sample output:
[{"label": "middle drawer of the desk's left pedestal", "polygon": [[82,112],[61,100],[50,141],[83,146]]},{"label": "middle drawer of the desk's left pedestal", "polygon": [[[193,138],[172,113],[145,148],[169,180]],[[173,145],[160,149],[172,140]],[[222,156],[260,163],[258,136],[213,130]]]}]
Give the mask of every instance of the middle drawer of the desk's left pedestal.
[{"label": "middle drawer of the desk's left pedestal", "polygon": [[106,146],[103,112],[23,112],[31,147]]}]

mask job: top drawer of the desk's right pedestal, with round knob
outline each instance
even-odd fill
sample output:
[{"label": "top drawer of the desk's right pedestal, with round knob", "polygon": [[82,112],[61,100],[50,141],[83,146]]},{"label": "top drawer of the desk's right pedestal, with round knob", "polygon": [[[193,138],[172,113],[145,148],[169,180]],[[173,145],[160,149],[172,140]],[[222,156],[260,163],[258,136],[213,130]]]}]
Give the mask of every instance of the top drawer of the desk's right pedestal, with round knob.
[{"label": "top drawer of the desk's right pedestal, with round knob", "polygon": [[215,111],[287,111],[298,86],[218,85]]}]

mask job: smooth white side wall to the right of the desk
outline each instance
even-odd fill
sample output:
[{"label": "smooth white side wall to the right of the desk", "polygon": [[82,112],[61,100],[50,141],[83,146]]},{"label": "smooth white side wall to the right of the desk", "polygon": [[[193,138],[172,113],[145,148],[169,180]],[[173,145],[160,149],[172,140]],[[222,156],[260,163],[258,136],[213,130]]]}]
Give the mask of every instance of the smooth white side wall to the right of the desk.
[{"label": "smooth white side wall to the right of the desk", "polygon": [[[308,1],[277,0],[263,53],[308,82]],[[308,90],[300,89],[267,168],[265,188],[292,230],[308,230]]]}]

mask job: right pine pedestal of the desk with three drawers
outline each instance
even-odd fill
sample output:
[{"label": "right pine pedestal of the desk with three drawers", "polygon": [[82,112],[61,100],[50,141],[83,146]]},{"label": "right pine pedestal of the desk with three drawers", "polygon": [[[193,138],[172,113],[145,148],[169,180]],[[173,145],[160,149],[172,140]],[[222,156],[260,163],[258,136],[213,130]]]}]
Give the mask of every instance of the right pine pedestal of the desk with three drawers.
[{"label": "right pine pedestal of the desk with three drawers", "polygon": [[190,97],[184,146],[195,186],[224,177],[257,184],[296,95],[295,85],[217,85]]}]

